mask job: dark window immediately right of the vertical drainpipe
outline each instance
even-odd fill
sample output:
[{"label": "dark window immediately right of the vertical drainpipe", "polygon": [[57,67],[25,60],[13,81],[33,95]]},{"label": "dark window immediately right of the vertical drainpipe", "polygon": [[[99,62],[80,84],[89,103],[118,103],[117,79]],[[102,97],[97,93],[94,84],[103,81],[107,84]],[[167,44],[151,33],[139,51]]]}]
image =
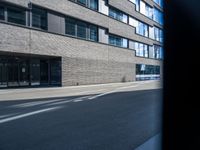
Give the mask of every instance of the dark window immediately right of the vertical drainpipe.
[{"label": "dark window immediately right of the vertical drainpipe", "polygon": [[33,6],[32,8],[32,26],[47,30],[47,11]]}]

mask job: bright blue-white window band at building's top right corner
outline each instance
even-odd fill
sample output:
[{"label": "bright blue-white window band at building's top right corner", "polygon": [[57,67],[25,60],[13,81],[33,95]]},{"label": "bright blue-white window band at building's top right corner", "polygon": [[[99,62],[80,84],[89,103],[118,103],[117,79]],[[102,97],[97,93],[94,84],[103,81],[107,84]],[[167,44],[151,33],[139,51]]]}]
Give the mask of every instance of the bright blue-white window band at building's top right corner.
[{"label": "bright blue-white window band at building's top right corner", "polygon": [[[155,7],[152,8],[142,0],[130,0],[130,1],[136,5],[136,11],[139,11],[141,14],[163,25],[163,14],[160,10],[158,10]],[[159,1],[159,3],[161,3],[160,1],[162,0],[154,0],[154,1]]]}]

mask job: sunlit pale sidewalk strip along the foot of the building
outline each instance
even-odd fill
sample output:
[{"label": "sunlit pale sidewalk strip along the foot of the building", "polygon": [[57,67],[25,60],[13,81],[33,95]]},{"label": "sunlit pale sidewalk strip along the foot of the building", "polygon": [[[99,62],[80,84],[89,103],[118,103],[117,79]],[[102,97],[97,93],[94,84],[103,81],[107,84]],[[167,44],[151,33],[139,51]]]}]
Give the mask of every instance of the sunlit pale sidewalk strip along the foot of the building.
[{"label": "sunlit pale sidewalk strip along the foot of the building", "polygon": [[157,88],[161,88],[160,81],[139,81],[51,88],[2,89],[0,90],[0,101],[93,95],[113,90],[116,90],[116,92],[124,92]]}]

